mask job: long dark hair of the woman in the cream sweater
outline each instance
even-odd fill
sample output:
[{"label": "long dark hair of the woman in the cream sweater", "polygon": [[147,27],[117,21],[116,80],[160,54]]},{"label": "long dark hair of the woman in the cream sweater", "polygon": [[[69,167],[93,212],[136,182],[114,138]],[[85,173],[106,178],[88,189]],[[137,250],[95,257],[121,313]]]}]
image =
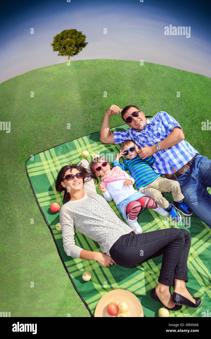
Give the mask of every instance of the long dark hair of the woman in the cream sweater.
[{"label": "long dark hair of the woman in the cream sweater", "polygon": [[58,176],[57,176],[57,179],[56,179],[56,184],[55,184],[55,188],[56,188],[56,191],[58,193],[64,191],[63,204],[65,204],[66,202],[68,202],[70,200],[70,194],[69,194],[69,192],[67,192],[67,189],[61,185],[61,181],[63,180],[66,171],[68,169],[70,169],[70,171],[72,171],[73,168],[76,168],[80,173],[83,174],[83,176],[84,176],[83,177],[83,184],[85,182],[91,180],[91,179],[97,180],[97,183],[99,182],[98,178],[96,176],[94,176],[89,169],[84,168],[81,165],[69,163],[68,165],[63,166],[58,173]]}]

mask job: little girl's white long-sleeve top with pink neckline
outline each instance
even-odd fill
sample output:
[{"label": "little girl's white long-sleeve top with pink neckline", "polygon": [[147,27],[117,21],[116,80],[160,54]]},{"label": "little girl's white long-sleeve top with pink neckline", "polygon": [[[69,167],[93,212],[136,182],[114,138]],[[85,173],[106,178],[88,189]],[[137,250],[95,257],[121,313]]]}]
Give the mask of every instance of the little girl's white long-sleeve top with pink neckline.
[{"label": "little girl's white long-sleeve top with pink neckline", "polygon": [[[135,179],[123,171],[127,179],[132,180],[132,185],[135,183]],[[111,201],[112,199],[115,201],[116,204],[119,204],[121,201],[128,198],[130,195],[136,193],[135,189],[132,185],[124,186],[124,182],[126,179],[117,180],[113,182],[108,182],[106,186],[106,192],[103,193],[104,198],[107,201]],[[102,180],[102,184],[104,184]]]}]

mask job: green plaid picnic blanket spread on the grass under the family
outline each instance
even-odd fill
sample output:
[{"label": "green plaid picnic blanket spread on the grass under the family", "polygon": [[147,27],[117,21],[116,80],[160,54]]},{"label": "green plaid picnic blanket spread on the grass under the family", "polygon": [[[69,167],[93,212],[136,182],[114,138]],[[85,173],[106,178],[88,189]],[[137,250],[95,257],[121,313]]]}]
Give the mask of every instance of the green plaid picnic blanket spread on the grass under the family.
[{"label": "green plaid picnic blanket spread on the grass under the family", "polygon": [[[127,129],[127,125],[112,128],[114,131]],[[88,136],[72,140],[61,145],[40,152],[26,161],[26,172],[38,206],[49,227],[55,241],[59,256],[65,267],[68,276],[89,310],[94,315],[95,307],[100,298],[113,289],[124,289],[132,292],[141,302],[145,317],[157,317],[160,303],[149,296],[151,288],[157,285],[157,279],[161,268],[162,256],[148,260],[135,268],[124,268],[118,265],[104,268],[96,261],[72,258],[66,255],[63,250],[62,232],[56,230],[59,222],[59,212],[52,213],[50,205],[58,202],[62,206],[62,194],[55,191],[55,181],[61,167],[69,162],[79,163],[82,160],[82,151],[87,150],[91,161],[92,154],[107,154],[112,161],[113,156],[119,153],[120,146],[103,144],[100,142],[100,133],[93,133]],[[99,194],[102,192],[97,191]],[[165,194],[166,198],[173,202],[171,194]],[[113,201],[108,202],[115,213],[123,219]],[[182,215],[183,216],[183,215]],[[140,214],[138,222],[143,232],[160,230],[167,227],[186,228],[191,233],[191,248],[188,257],[188,279],[187,288],[195,297],[201,297],[202,303],[196,309],[183,306],[181,311],[170,312],[170,317],[202,317],[207,316],[207,310],[211,309],[211,283],[210,283],[210,254],[211,254],[211,230],[200,221],[195,215],[185,219],[173,226],[168,220],[159,216],[154,211],[146,209]],[[75,232],[76,245],[88,251],[99,251],[98,243],[84,236],[79,231]],[[85,282],[82,274],[90,271],[92,278]],[[173,288],[172,288],[173,292]],[[204,313],[203,313],[204,312]]]}]

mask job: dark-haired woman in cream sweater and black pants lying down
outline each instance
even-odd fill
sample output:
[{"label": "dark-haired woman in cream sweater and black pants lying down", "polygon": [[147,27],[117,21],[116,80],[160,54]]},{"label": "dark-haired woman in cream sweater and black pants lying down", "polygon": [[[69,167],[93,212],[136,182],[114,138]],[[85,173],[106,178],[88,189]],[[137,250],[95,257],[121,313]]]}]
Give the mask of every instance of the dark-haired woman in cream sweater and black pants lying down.
[{"label": "dark-haired woman in cream sweater and black pants lying down", "polygon": [[[150,291],[151,298],[172,311],[180,310],[182,305],[198,307],[201,299],[192,298],[185,286],[188,281],[190,233],[178,228],[142,234],[131,231],[97,193],[88,165],[86,160],[82,160],[79,165],[66,165],[61,168],[56,180],[57,192],[65,191],[60,222],[66,254],[96,260],[104,267],[115,263],[134,267],[163,254],[159,282]],[[77,246],[74,227],[98,242],[102,253],[86,251]],[[171,295],[170,286],[173,284],[175,289]]]}]

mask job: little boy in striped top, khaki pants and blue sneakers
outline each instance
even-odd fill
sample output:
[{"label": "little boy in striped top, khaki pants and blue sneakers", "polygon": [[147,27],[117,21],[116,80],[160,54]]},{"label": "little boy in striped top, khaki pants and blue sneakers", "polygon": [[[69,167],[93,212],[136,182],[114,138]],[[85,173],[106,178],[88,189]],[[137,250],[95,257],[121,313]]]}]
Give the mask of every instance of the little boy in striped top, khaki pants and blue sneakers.
[{"label": "little boy in striped top, khaki pants and blue sneakers", "polygon": [[[184,202],[184,195],[181,192],[178,181],[161,178],[160,174],[153,171],[150,165],[154,162],[153,156],[142,160],[138,155],[139,147],[132,140],[125,140],[121,144],[121,151],[113,161],[113,166],[120,166],[124,171],[130,171],[131,176],[135,179],[136,188],[142,193],[150,196],[158,205],[166,210],[177,223],[182,217],[176,211],[182,212],[186,216],[190,216],[192,211]],[[120,163],[119,159],[125,157],[126,160]],[[174,199],[173,204],[166,200],[162,193],[171,192]]]}]

